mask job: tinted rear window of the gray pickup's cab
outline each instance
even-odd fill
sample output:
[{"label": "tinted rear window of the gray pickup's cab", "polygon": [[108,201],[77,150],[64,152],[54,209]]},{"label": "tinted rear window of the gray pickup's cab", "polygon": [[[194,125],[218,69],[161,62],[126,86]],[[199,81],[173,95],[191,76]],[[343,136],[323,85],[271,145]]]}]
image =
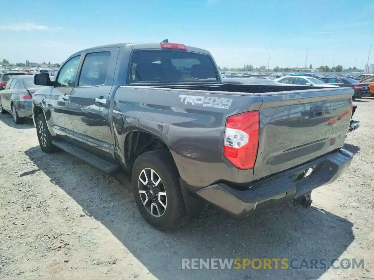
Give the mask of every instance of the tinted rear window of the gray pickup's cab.
[{"label": "tinted rear window of the gray pickup's cab", "polygon": [[184,51],[141,50],[132,54],[128,83],[218,81],[208,55]]}]

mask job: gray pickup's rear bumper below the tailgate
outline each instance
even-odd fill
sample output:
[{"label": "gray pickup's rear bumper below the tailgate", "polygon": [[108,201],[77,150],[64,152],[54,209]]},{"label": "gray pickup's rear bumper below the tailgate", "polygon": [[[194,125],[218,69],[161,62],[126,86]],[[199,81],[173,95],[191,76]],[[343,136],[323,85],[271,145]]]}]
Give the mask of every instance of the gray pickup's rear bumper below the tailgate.
[{"label": "gray pickup's rear bumper below the tailgate", "polygon": [[[236,218],[244,218],[255,209],[275,208],[331,184],[346,171],[352,158],[352,153],[340,149],[299,167],[255,181],[248,190],[240,191],[218,183],[200,189],[197,195]],[[309,176],[298,181],[292,179],[308,168],[313,168]]]}]

